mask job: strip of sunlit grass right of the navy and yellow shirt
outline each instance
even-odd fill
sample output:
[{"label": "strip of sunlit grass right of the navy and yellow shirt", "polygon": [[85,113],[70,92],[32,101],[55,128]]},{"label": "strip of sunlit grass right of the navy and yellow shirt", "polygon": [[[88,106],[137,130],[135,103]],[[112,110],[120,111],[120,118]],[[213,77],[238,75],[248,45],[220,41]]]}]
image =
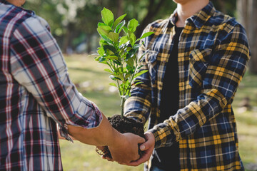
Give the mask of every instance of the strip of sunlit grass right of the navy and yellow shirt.
[{"label": "strip of sunlit grass right of the navy and yellow shirt", "polygon": [[[250,98],[251,111],[239,112],[243,98]],[[238,87],[233,108],[236,115],[239,153],[248,170],[249,163],[257,163],[257,76],[246,72]]]}]

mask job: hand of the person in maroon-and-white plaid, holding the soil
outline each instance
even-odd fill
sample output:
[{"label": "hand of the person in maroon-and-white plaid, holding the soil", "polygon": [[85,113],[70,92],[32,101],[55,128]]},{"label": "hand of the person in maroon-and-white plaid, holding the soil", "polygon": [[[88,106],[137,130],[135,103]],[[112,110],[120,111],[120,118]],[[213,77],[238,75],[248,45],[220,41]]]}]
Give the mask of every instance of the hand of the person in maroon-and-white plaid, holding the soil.
[{"label": "hand of the person in maroon-and-white plaid, holding the soil", "polygon": [[122,165],[129,165],[131,161],[138,160],[140,157],[138,155],[138,144],[145,141],[144,138],[132,133],[122,134],[114,145],[109,145],[112,160]]}]

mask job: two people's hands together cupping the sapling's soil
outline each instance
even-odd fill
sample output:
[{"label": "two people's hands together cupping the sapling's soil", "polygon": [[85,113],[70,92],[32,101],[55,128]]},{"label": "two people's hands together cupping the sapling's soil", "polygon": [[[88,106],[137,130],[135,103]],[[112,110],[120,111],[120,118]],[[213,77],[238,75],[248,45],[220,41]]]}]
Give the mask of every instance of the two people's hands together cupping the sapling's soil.
[{"label": "two people's hands together cupping the sapling's soil", "polygon": [[[104,159],[130,166],[138,166],[149,160],[155,145],[155,138],[152,133],[145,133],[146,141],[132,133],[124,133],[123,135],[124,139],[118,146],[109,147],[112,158],[103,156]],[[138,155],[138,144],[141,144],[140,150],[143,151],[141,157]]]}]

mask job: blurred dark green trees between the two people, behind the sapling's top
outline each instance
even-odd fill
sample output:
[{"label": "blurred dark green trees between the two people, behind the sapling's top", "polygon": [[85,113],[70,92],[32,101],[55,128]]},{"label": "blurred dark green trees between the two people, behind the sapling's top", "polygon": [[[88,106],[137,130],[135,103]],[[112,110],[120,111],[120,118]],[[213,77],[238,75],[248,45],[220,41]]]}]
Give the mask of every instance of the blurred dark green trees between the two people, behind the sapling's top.
[{"label": "blurred dark green trees between the two people, behind the sapling's top", "polygon": [[128,14],[128,21],[138,19],[142,24],[136,35],[140,36],[151,21],[168,17],[176,4],[167,0],[27,0],[25,5],[49,22],[51,32],[64,53],[85,41],[83,39],[86,39],[87,52],[93,50],[91,36],[97,34],[97,22],[101,19],[99,14],[103,7],[114,11],[115,16]]}]

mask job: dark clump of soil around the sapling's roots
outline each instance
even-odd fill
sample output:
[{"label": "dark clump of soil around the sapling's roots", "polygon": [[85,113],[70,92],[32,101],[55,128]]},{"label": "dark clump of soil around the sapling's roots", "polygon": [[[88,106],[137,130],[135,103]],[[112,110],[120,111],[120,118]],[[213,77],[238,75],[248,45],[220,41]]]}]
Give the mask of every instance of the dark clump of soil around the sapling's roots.
[{"label": "dark clump of soil around the sapling's roots", "polygon": [[[133,133],[136,135],[144,137],[143,123],[133,120],[131,118],[126,118],[125,116],[121,118],[121,115],[114,115],[108,118],[112,127],[119,131],[119,133]],[[106,157],[111,157],[111,152],[107,146],[105,147],[96,147],[96,152],[99,155],[104,155]],[[138,150],[138,154],[142,155],[141,150]]]}]

